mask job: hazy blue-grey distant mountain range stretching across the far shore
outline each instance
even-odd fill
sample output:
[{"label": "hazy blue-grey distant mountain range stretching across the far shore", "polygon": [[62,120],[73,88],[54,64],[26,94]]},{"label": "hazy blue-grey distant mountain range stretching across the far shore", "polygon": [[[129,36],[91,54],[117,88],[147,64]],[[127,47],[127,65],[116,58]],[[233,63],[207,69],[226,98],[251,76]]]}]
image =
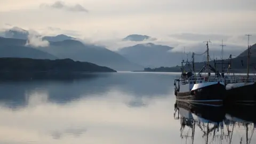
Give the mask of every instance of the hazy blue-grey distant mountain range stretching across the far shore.
[{"label": "hazy blue-grey distant mountain range stretching across the far shore", "polygon": [[[7,31],[7,32],[6,32]],[[17,37],[15,42],[12,42],[13,39],[5,39],[4,42],[0,39],[2,44],[8,43],[9,45],[17,45],[24,47],[33,47],[32,45],[26,45],[27,36],[29,35],[28,31],[13,27],[12,29],[6,30],[5,32],[8,34],[7,36]],[[24,38],[26,36],[26,38]],[[23,40],[22,40],[23,39]],[[123,47],[116,52],[110,51],[103,46],[96,46],[93,44],[87,44],[79,39],[74,37],[70,37],[67,35],[57,35],[57,36],[44,36],[42,37],[43,41],[49,41],[49,46],[47,47],[37,47],[36,50],[40,50],[47,54],[53,55],[55,58],[66,59],[70,58],[78,61],[87,61],[92,62],[100,66],[107,66],[113,68],[115,70],[140,70],[143,67],[172,67],[176,65],[180,65],[182,58],[185,60],[191,60],[192,53],[185,54],[181,51],[176,51],[171,46],[166,45],[158,45],[154,43],[145,43],[145,44],[136,44],[133,46]],[[142,42],[142,41],[151,41],[156,40],[156,38],[147,36],[147,35],[138,35],[133,34],[126,36],[123,38],[123,41],[133,41],[133,42]],[[219,45],[218,45],[219,46]],[[205,45],[199,46],[191,46],[189,47],[196,49],[199,47],[199,52],[202,53],[206,50]],[[255,46],[252,46],[252,55],[255,54]],[[215,48],[218,48],[215,46]],[[212,49],[210,46],[210,57],[214,59],[216,57],[220,57],[221,49]],[[231,47],[233,48],[233,47]],[[20,47],[21,49],[21,47]],[[183,49],[183,48],[182,48]],[[201,51],[202,49],[202,51]],[[244,53],[247,54],[247,50]],[[241,50],[241,52],[243,51]],[[238,55],[241,53],[240,50],[234,49],[224,50],[224,58],[228,57],[229,54]],[[186,52],[187,53],[187,52]],[[215,54],[215,55],[214,55]],[[17,54],[14,54],[17,55]],[[45,56],[42,56],[45,57]],[[195,61],[200,62],[205,60],[204,55],[196,55]]]}]

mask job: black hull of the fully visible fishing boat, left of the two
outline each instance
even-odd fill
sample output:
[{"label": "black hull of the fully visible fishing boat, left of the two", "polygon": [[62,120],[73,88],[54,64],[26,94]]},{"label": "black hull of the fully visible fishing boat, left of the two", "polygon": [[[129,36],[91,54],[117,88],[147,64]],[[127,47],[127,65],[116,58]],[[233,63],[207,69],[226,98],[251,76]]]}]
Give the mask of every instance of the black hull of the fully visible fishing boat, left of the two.
[{"label": "black hull of the fully visible fishing boat, left of the two", "polygon": [[223,106],[225,94],[225,85],[215,83],[188,92],[177,92],[176,99],[196,105]]}]

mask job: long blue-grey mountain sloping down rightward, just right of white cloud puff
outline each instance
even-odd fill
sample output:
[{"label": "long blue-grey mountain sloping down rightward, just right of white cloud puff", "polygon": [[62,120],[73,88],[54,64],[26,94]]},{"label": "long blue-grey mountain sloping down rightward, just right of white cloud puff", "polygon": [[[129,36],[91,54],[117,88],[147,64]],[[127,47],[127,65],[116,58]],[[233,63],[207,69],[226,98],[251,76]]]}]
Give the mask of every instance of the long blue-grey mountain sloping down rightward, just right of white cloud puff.
[{"label": "long blue-grey mountain sloping down rightward, just right of white cloud puff", "polygon": [[141,70],[142,66],[130,62],[122,55],[110,51],[105,47],[83,44],[75,40],[51,42],[49,47],[39,48],[60,59],[70,58],[78,61],[92,62],[100,66],[107,66],[115,70]]}]

